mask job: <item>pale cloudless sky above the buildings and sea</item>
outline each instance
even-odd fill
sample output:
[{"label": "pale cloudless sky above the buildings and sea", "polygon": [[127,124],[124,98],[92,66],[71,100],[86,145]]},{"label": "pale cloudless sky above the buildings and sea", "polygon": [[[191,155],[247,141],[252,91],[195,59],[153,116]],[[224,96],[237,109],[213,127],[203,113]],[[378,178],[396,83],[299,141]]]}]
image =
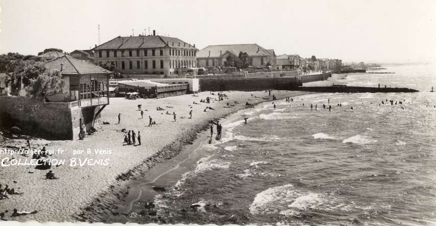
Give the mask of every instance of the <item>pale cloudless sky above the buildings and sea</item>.
[{"label": "pale cloudless sky above the buildings and sea", "polygon": [[70,52],[148,27],[201,49],[257,43],[346,62],[436,62],[436,1],[0,0],[0,53]]}]

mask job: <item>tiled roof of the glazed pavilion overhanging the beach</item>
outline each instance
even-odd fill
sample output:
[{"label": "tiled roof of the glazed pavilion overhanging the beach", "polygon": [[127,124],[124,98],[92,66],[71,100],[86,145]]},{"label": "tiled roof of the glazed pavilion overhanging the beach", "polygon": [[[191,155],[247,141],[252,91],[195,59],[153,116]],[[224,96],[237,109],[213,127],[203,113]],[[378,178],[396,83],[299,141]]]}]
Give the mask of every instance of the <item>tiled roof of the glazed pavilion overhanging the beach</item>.
[{"label": "tiled roof of the glazed pavilion overhanging the beach", "polygon": [[[61,64],[62,71],[61,71]],[[50,71],[60,71],[61,74],[108,74],[112,73],[102,67],[90,64],[86,61],[77,60],[71,56],[64,55],[49,61],[44,66]]]}]

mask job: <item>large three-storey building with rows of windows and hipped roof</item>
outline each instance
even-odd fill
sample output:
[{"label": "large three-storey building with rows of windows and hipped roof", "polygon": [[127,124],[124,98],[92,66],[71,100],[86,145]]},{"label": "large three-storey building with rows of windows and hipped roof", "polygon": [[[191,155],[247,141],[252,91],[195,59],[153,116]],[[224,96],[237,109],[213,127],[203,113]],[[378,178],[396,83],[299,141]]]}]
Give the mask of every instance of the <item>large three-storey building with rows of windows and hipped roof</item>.
[{"label": "large three-storey building with rows of windows and hipped roof", "polygon": [[[116,37],[92,49],[96,64],[113,62],[123,74],[158,74],[177,77],[197,66],[194,45],[178,38],[157,36]],[[185,70],[182,70],[185,69]]]}]

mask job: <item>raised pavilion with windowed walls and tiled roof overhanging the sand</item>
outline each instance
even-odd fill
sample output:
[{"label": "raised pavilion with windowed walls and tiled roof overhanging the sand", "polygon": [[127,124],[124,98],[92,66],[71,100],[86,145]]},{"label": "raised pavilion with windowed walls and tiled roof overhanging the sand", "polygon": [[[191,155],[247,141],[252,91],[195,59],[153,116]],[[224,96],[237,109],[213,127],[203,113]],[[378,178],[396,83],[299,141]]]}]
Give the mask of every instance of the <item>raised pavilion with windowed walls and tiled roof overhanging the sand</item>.
[{"label": "raised pavilion with windowed walls and tiled roof overhanging the sand", "polygon": [[68,103],[71,110],[71,136],[89,131],[109,104],[109,77],[112,72],[64,55],[44,64],[47,70],[59,71],[65,81],[65,92],[48,97],[49,103]]}]

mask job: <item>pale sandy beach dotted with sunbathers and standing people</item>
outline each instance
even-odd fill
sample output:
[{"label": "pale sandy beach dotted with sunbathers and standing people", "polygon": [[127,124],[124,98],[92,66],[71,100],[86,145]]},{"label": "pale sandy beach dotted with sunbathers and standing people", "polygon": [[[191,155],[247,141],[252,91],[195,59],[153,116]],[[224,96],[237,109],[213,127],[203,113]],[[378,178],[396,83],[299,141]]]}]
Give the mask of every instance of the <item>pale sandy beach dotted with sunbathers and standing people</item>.
[{"label": "pale sandy beach dotted with sunbathers and standing people", "polygon": [[[99,221],[95,214],[99,211],[108,211],[111,202],[116,202],[117,197],[126,195],[123,194],[123,189],[129,179],[146,174],[155,163],[164,162],[177,155],[185,145],[192,144],[199,131],[207,129],[210,120],[220,119],[246,108],[246,102],[256,104],[267,101],[262,98],[270,98],[271,101],[273,95],[281,99],[305,93],[272,91],[269,97],[268,93],[263,91],[225,92],[229,99],[224,101],[217,101],[216,94],[202,92],[196,96],[183,95],[163,99],[111,98],[100,119],[101,122],[110,124],[100,124],[96,127],[98,131],[86,136],[84,140],[32,139],[33,149],[45,146],[47,150],[54,150],[51,159],[65,159],[62,165],[52,165],[51,170],[58,179],[44,179],[48,170],[36,170],[35,166],[3,166],[0,170],[0,183],[8,184],[16,192],[23,193],[8,195],[8,199],[1,200],[0,212],[8,210],[5,219],[16,221]],[[207,96],[212,99],[211,103],[200,103],[200,100]],[[200,104],[193,104],[193,101]],[[227,102],[234,106],[225,107]],[[143,119],[137,108],[138,104],[141,104],[144,110]],[[204,112],[206,106],[214,110],[207,109],[207,112]],[[157,107],[164,110],[156,110]],[[189,110],[192,110],[192,119],[188,119]],[[165,114],[166,111],[169,114],[176,112],[176,122],[173,115]],[[117,124],[119,113],[121,121]],[[148,126],[149,116],[157,125]],[[123,146],[124,133],[120,132],[123,128],[134,130],[135,133],[140,131],[142,144]],[[0,147],[25,148],[26,140],[8,139],[0,143]],[[64,151],[58,153],[57,150]],[[75,150],[83,150],[83,153]],[[21,161],[32,159],[31,156],[21,156],[17,153],[2,153],[0,157]],[[87,161],[89,159],[92,160]],[[72,166],[74,162],[77,163],[76,166]],[[80,163],[84,165],[79,166]],[[12,217],[13,209],[28,212],[36,210],[37,213]]]}]

